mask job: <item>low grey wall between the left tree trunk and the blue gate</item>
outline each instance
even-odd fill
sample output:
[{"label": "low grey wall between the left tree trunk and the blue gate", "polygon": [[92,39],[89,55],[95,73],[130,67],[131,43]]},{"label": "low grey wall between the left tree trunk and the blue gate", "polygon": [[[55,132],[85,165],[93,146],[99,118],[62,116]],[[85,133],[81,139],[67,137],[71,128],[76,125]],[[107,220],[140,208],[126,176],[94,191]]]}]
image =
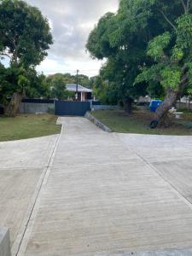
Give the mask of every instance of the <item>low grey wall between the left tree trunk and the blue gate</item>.
[{"label": "low grey wall between the left tree trunk and the blue gate", "polygon": [[47,113],[49,109],[54,108],[55,106],[53,103],[20,103],[20,113]]}]

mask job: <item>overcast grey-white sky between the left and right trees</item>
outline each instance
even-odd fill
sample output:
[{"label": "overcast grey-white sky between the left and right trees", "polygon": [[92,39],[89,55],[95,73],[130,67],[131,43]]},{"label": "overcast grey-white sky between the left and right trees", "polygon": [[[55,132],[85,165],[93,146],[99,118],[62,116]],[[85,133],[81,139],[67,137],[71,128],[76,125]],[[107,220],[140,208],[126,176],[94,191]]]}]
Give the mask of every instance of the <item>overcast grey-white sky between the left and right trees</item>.
[{"label": "overcast grey-white sky between the left and right trees", "polygon": [[108,11],[118,9],[119,0],[26,0],[49,19],[54,44],[38,67],[39,72],[80,73],[94,76],[101,67],[85,52],[84,45],[94,25]]}]

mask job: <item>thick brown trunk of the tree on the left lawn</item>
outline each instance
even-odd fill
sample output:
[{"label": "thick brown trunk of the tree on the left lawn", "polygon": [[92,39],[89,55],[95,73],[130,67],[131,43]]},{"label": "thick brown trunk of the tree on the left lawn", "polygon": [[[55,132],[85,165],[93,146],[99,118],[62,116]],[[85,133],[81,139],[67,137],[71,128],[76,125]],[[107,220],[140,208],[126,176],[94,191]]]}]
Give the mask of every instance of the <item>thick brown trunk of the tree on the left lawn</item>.
[{"label": "thick brown trunk of the tree on the left lawn", "polygon": [[5,108],[5,114],[10,117],[15,117],[18,113],[20,102],[22,100],[22,95],[19,92],[15,92],[11,97],[11,101],[8,106]]}]

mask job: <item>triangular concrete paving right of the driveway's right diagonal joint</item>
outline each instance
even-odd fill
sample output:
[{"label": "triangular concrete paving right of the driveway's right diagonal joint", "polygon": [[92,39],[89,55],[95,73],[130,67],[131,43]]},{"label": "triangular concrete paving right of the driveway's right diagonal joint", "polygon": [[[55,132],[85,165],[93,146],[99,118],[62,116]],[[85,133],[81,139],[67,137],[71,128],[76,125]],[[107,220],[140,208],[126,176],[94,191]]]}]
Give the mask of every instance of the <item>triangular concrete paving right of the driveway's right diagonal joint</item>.
[{"label": "triangular concrete paving right of the driveway's right diagonal joint", "polygon": [[192,203],[192,137],[128,134],[118,137]]}]

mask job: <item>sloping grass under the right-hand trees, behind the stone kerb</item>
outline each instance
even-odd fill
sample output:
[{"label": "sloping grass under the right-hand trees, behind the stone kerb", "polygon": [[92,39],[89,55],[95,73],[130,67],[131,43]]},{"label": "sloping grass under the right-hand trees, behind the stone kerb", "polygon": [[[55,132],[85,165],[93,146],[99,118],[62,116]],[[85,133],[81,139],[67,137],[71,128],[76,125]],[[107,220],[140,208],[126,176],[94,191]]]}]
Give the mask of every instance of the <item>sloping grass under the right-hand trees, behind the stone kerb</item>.
[{"label": "sloping grass under the right-hand trees, behind the stone kerb", "polygon": [[158,135],[192,135],[192,113],[184,113],[182,120],[176,121],[169,128],[150,129],[148,126],[153,113],[148,110],[137,110],[131,116],[123,110],[103,110],[92,113],[96,119],[115,132],[158,134]]}]

